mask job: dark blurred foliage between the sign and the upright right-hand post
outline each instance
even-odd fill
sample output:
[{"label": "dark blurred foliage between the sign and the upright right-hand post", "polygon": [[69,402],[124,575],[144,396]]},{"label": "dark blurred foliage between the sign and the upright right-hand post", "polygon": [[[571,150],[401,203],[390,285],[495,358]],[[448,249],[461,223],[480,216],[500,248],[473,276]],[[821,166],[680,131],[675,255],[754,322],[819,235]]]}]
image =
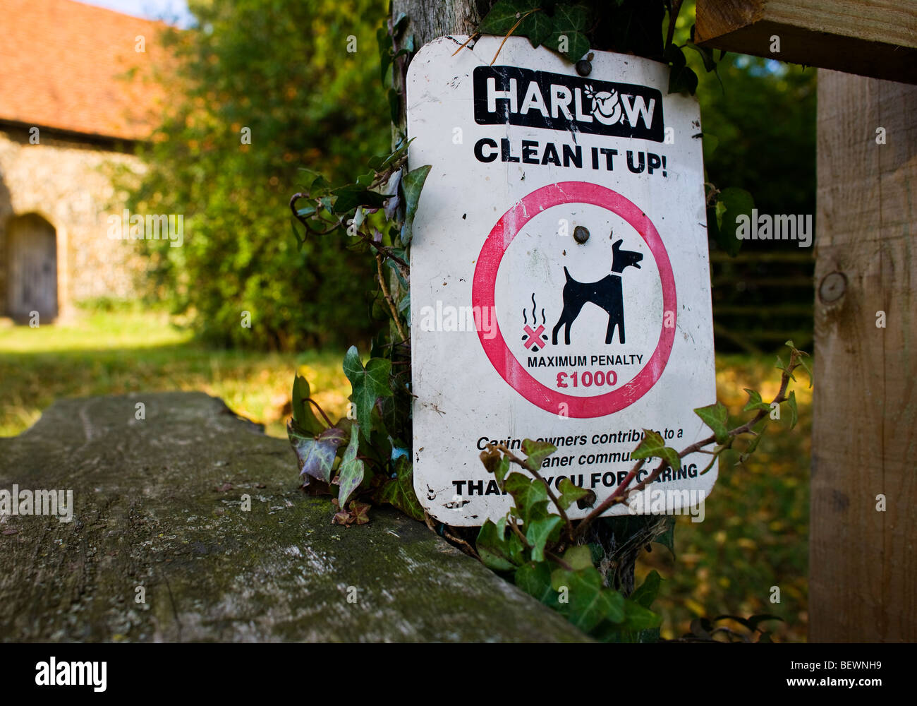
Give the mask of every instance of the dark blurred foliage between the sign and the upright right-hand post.
[{"label": "dark blurred foliage between the sign and the upright right-hand post", "polygon": [[[694,2],[681,7],[674,37],[682,44],[694,24]],[[772,59],[726,54],[718,64],[722,85],[703,72],[700,56],[689,65],[700,76],[704,166],[714,185],[735,185],[755,196],[758,213],[810,214],[815,224],[816,73]],[[719,52],[717,52],[719,56]],[[779,58],[779,54],[774,55]],[[713,138],[713,139],[712,139]],[[711,242],[711,249],[716,246]],[[713,319],[717,350],[778,350],[792,338],[812,340],[813,247],[796,241],[744,241],[742,257],[713,257]],[[796,262],[758,255],[795,255]]]}]

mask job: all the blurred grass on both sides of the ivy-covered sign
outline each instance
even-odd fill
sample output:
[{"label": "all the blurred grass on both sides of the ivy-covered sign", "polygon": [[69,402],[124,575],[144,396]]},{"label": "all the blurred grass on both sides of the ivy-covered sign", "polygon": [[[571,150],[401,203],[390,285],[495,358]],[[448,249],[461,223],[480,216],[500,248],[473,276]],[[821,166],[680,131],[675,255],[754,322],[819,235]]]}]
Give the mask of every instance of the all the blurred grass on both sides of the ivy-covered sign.
[{"label": "all the blurred grass on both sides of the ivy-covered sign", "polygon": [[[349,386],[341,358],[340,351],[206,348],[157,312],[96,311],[71,324],[7,326],[0,328],[0,436],[27,429],[56,398],[203,390],[285,437],[294,369],[307,376],[329,416],[343,415]],[[743,387],[765,399],[777,392],[774,363],[771,356],[717,357],[718,396],[733,419],[746,401]],[[738,454],[727,452],[704,521],[678,519],[676,558],[656,544],[638,560],[638,582],[653,568],[667,579],[655,605],[665,616],[664,637],[688,632],[691,620],[703,615],[768,612],[785,621],[776,623],[775,640],[805,640],[812,391],[804,374],[797,377],[797,428],[771,421],[746,465],[735,466]],[[772,587],[779,588],[779,603],[770,602]]]}]

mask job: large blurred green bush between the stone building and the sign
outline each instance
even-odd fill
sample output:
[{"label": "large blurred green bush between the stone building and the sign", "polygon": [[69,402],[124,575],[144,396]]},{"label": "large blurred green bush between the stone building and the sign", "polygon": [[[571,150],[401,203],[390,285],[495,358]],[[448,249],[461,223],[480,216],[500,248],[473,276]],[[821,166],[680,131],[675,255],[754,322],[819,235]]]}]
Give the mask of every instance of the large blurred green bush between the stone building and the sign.
[{"label": "large blurred green bush between the stone building and the sign", "polygon": [[385,3],[190,7],[198,28],[164,35],[176,57],[163,77],[174,102],[127,204],[184,214],[182,247],[141,241],[151,294],[193,314],[216,344],[303,350],[367,340],[371,261],[341,256],[340,239],[297,252],[288,202],[299,167],[340,178],[389,145],[374,36]]}]

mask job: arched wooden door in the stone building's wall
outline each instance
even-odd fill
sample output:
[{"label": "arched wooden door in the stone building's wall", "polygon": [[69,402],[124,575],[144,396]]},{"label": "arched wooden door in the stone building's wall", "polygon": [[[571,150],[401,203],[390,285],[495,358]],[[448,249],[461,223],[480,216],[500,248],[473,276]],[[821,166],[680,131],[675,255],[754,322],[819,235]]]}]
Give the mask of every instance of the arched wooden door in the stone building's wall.
[{"label": "arched wooden door in the stone building's wall", "polygon": [[14,216],[6,229],[6,305],[13,319],[32,311],[39,319],[55,319],[57,298],[57,233],[37,213]]}]

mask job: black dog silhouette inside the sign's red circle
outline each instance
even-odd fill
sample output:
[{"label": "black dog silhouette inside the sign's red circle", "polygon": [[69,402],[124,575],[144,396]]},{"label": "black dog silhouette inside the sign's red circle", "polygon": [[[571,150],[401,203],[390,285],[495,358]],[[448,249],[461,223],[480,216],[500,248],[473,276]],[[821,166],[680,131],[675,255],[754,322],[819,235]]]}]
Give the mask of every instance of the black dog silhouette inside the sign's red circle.
[{"label": "black dog silhouette inside the sign's red circle", "polygon": [[580,316],[580,310],[586,302],[602,307],[608,312],[608,332],[605,333],[605,342],[612,342],[614,327],[618,327],[618,341],[624,342],[624,294],[621,287],[621,273],[626,267],[640,269],[643,255],[640,252],[621,250],[621,243],[615,241],[612,246],[612,274],[605,275],[598,282],[577,282],[573,279],[567,268],[567,284],[564,285],[564,310],[560,312],[560,319],[552,331],[554,345],[558,344],[558,331],[561,326],[566,326],[564,342],[570,343],[570,326]]}]

